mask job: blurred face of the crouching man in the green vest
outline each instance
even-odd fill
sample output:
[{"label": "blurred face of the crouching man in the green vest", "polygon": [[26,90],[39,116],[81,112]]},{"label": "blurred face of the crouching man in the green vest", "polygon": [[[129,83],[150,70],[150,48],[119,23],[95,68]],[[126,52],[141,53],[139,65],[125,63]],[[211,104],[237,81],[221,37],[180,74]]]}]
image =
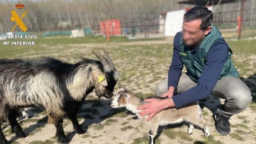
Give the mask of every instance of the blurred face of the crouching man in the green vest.
[{"label": "blurred face of the crouching man in the green vest", "polygon": [[183,42],[187,46],[198,45],[204,38],[204,31],[200,29],[201,20],[184,21],[182,25]]}]

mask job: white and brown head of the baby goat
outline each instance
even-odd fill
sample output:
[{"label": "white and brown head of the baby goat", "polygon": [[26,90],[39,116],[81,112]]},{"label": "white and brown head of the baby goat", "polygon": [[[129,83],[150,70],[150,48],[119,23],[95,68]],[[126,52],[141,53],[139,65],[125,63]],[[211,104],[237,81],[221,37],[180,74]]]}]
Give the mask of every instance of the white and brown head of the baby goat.
[{"label": "white and brown head of the baby goat", "polygon": [[117,92],[116,97],[111,102],[111,106],[113,108],[127,106],[129,99],[131,97],[130,95],[132,95],[132,93],[126,90],[125,87],[119,88],[119,91]]}]

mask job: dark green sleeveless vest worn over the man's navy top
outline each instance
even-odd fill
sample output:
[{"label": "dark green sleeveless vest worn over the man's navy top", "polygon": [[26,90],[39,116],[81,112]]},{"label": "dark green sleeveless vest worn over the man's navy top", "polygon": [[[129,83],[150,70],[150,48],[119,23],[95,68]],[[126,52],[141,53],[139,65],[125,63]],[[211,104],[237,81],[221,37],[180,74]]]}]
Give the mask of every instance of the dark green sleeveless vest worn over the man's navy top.
[{"label": "dark green sleeveless vest worn over the man's navy top", "polygon": [[[213,43],[219,38],[224,40],[220,31],[215,26],[213,26],[211,32],[204,38],[204,40],[197,48],[197,52],[194,54],[194,56],[192,56],[190,48],[183,44],[183,38],[180,38],[180,56],[183,64],[187,68],[188,76],[194,82],[197,83],[198,79],[201,76],[201,73],[204,70],[204,64],[207,61],[207,52],[211,49]],[[231,55],[232,50],[228,45],[228,58],[224,63],[219,79],[226,76],[234,76],[236,78],[239,77],[239,74],[232,62]]]}]

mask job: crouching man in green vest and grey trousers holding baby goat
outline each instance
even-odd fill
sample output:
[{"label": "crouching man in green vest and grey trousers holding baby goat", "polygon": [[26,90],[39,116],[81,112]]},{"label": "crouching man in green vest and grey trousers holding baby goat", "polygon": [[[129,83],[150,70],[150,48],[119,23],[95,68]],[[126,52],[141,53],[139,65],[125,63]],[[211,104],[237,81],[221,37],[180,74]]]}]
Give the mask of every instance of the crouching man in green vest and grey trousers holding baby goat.
[{"label": "crouching man in green vest and grey trousers holding baby goat", "polygon": [[[250,89],[238,79],[232,51],[220,31],[211,26],[212,21],[213,13],[203,6],[184,14],[182,31],[175,35],[173,42],[168,79],[155,88],[158,96],[168,99],[146,99],[149,103],[138,109],[142,109],[142,116],[150,114],[147,120],[166,108],[178,109],[212,94],[225,99],[225,104],[216,111],[216,132],[228,135],[230,117],[251,102]],[[183,64],[187,73],[182,73]]]}]

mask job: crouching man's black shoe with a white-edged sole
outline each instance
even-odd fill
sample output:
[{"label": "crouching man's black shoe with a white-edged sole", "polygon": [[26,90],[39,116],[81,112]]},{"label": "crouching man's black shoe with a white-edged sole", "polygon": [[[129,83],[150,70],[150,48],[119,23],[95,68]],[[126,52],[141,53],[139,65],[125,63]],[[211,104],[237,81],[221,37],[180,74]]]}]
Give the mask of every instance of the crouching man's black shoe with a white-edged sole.
[{"label": "crouching man's black shoe with a white-edged sole", "polygon": [[216,113],[215,115],[215,127],[216,127],[216,132],[219,135],[226,136],[230,133],[230,124],[228,121],[228,118],[223,116],[222,114]]}]

